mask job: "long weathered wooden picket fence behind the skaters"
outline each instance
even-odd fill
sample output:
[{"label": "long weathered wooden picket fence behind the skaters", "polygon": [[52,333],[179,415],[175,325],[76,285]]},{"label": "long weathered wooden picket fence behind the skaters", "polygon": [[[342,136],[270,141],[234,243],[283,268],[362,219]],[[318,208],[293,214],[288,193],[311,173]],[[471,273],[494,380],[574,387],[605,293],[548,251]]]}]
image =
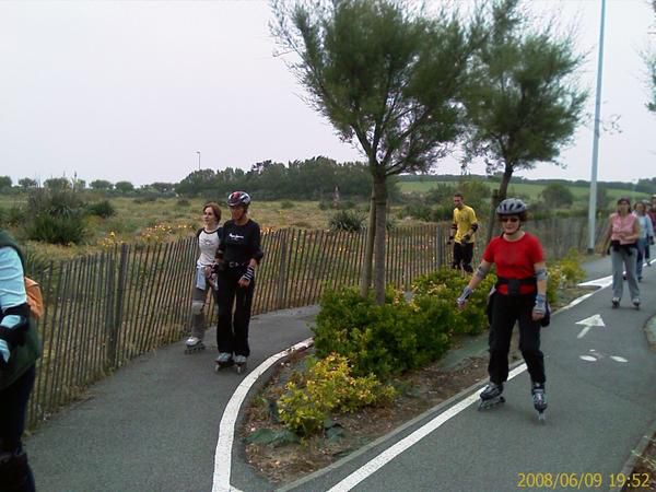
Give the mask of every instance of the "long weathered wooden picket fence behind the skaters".
[{"label": "long weathered wooden picket fence behind the skaters", "polygon": [[[417,277],[448,265],[448,225],[388,231],[387,283],[408,290]],[[585,249],[584,224],[561,221],[529,229],[547,238],[543,244],[550,256],[562,256],[570,247]],[[266,257],[258,269],[254,314],[316,304],[326,289],[358,285],[365,238],[364,231],[265,232]],[[482,245],[477,245],[477,258],[481,250]],[[38,324],[44,351],[28,427],[80,398],[90,384],[129,360],[185,336],[196,256],[196,239],[188,237],[149,246],[122,244],[52,261],[39,270],[28,267],[42,285],[46,305]],[[213,300],[206,308],[213,325]]]}]

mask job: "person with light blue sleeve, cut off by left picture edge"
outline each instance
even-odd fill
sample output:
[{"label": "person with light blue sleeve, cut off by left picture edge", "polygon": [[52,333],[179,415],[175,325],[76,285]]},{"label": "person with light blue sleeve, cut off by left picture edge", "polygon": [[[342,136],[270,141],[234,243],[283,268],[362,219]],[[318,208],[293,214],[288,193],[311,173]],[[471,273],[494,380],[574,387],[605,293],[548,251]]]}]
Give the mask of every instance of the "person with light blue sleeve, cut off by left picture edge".
[{"label": "person with light blue sleeve, cut off by left picture edge", "polygon": [[27,400],[40,354],[38,332],[25,293],[21,249],[0,230],[0,490],[33,492],[23,450]]}]

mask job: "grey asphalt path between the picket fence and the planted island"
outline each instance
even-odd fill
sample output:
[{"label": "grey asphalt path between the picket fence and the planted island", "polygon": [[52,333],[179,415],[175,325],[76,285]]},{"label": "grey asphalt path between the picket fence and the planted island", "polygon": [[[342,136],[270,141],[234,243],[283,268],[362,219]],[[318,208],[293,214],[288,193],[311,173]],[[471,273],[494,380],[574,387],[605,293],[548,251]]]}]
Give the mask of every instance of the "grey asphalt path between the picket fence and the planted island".
[{"label": "grey asphalt path between the picket fence and the planted island", "polygon": [[[249,371],[309,337],[315,313],[311,307],[254,317]],[[215,455],[225,458],[216,454],[220,421],[248,373],[215,373],[213,330],[206,343],[196,354],[185,355],[180,341],[138,358],[43,424],[25,442],[37,490],[211,491]],[[248,479],[253,490],[270,488],[253,472]]]}]

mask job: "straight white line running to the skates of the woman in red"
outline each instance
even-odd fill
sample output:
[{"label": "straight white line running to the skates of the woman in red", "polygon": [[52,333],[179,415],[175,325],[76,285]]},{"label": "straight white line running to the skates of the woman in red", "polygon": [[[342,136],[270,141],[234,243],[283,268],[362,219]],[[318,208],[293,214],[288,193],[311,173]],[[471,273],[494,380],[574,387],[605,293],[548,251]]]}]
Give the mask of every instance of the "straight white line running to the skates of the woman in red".
[{"label": "straight white line running to the skates of the woman in red", "polygon": [[[526,371],[526,364],[522,364],[522,365],[515,367],[513,371],[511,371],[511,374],[508,374],[508,380],[511,380],[515,376],[522,374],[524,371]],[[462,410],[465,410],[471,403],[475,403],[476,401],[478,401],[478,399],[479,399],[478,391],[473,393],[472,395],[469,395],[467,398],[465,398],[464,400],[460,400],[459,402],[454,405],[452,408],[449,408],[445,412],[435,417],[433,420],[431,420],[429,423],[426,423],[422,427],[419,427],[417,431],[414,431],[409,436],[402,438],[401,441],[396,443],[394,446],[391,446],[391,447],[387,448],[386,450],[384,450],[383,453],[380,453],[378,456],[376,456],[374,459],[368,461],[362,468],[355,470],[353,473],[348,476],[345,479],[343,479],[341,482],[339,482],[337,485],[335,485],[328,492],[345,492],[345,491],[353,489],[361,481],[363,481],[364,479],[366,479],[367,477],[373,475],[378,469],[383,468],[385,465],[387,465],[389,461],[391,461],[398,455],[403,453],[406,449],[408,449],[409,447],[419,443],[422,438],[424,438],[431,432],[433,432],[434,430],[440,427],[443,423],[447,422],[453,417],[456,417],[458,413],[460,413]]]}]

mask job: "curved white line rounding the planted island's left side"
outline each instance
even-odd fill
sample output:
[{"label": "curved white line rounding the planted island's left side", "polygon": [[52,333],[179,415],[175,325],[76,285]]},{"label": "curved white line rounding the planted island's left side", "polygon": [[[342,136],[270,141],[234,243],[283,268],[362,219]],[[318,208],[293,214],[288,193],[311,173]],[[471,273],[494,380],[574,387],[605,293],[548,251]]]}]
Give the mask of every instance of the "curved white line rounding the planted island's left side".
[{"label": "curved white line rounding the planted island's left side", "polygon": [[237,414],[239,408],[246,399],[250,387],[255,384],[257,378],[261,376],[269,367],[280,361],[282,358],[296,352],[298,350],[307,349],[314,343],[312,338],[303,340],[289,349],[278,352],[271,355],[254,371],[248,373],[244,380],[237,386],[235,393],[231,397],[223,417],[221,417],[221,423],[219,424],[219,441],[216,442],[216,450],[214,452],[214,477],[212,481],[212,492],[238,492],[238,489],[230,484],[230,475],[232,471],[232,448],[235,435],[235,423],[237,421]]}]

